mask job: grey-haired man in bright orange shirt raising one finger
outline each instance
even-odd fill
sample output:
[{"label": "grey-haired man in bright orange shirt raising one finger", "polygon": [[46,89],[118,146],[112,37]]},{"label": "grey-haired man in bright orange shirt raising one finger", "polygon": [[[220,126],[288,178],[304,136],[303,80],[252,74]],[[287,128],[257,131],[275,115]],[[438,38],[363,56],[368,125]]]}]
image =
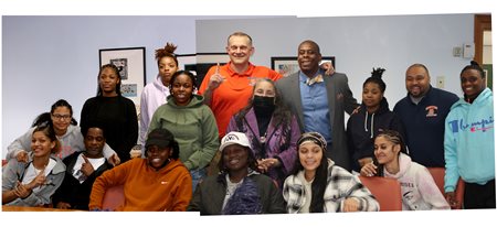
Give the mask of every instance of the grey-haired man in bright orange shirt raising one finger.
[{"label": "grey-haired man in bright orange shirt raising one finger", "polygon": [[282,75],[265,67],[250,63],[254,54],[252,37],[235,32],[228,37],[226,52],[230,62],[212,66],[205,74],[198,94],[203,95],[204,104],[214,112],[219,138],[224,137],[231,117],[247,105],[252,97],[256,78],[277,80]]}]

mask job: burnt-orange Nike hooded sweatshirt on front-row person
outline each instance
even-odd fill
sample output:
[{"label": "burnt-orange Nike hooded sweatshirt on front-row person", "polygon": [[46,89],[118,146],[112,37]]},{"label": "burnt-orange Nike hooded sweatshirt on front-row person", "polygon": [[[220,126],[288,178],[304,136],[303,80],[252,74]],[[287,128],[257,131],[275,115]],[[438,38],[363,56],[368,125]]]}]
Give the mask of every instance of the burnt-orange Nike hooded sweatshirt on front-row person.
[{"label": "burnt-orange Nike hooded sweatshirt on front-row person", "polygon": [[179,160],[155,170],[146,159],[133,159],[104,172],[93,184],[89,210],[102,209],[105,191],[124,185],[124,212],[184,212],[192,195],[191,176]]}]

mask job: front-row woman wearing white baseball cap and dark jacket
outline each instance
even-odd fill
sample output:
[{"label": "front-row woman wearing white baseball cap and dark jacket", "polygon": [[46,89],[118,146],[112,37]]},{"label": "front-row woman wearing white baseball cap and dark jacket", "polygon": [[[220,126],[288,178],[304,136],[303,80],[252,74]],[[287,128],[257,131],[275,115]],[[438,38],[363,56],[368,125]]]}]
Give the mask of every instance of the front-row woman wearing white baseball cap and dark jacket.
[{"label": "front-row woman wearing white baseball cap and dark jacket", "polygon": [[283,214],[282,193],[273,180],[257,172],[246,136],[229,132],[221,139],[220,173],[198,186],[188,206],[200,215]]}]

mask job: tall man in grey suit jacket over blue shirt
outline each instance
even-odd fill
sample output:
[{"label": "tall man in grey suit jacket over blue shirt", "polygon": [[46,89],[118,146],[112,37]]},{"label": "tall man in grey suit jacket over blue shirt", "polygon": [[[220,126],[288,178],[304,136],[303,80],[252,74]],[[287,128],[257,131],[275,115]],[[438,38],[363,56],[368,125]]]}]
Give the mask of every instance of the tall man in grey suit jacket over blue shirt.
[{"label": "tall man in grey suit jacket over blue shirt", "polygon": [[319,45],[306,40],[298,45],[299,72],[276,82],[283,99],[298,116],[302,131],[317,131],[328,142],[326,156],[343,169],[351,170],[345,131],[345,111],[359,106],[345,74],[324,76],[319,68]]}]

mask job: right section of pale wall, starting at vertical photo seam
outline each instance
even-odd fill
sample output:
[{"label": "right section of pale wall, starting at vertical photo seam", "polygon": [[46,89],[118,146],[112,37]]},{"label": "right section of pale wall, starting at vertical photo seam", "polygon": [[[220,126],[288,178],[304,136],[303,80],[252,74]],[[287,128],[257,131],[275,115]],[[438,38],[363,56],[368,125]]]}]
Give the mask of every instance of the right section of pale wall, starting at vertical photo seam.
[{"label": "right section of pale wall, starting at vertical photo seam", "polygon": [[406,94],[404,74],[413,63],[429,67],[432,85],[445,76],[445,89],[462,95],[458,75],[469,60],[452,48],[473,42],[473,14],[374,15],[295,19],[202,20],[197,22],[197,51],[222,52],[234,31],[250,34],[251,58],[271,67],[272,56],[296,56],[304,40],[316,41],[324,56],[336,56],[337,72],[349,77],[360,101],[362,83],[372,67],[384,67],[385,97],[391,108]]}]

